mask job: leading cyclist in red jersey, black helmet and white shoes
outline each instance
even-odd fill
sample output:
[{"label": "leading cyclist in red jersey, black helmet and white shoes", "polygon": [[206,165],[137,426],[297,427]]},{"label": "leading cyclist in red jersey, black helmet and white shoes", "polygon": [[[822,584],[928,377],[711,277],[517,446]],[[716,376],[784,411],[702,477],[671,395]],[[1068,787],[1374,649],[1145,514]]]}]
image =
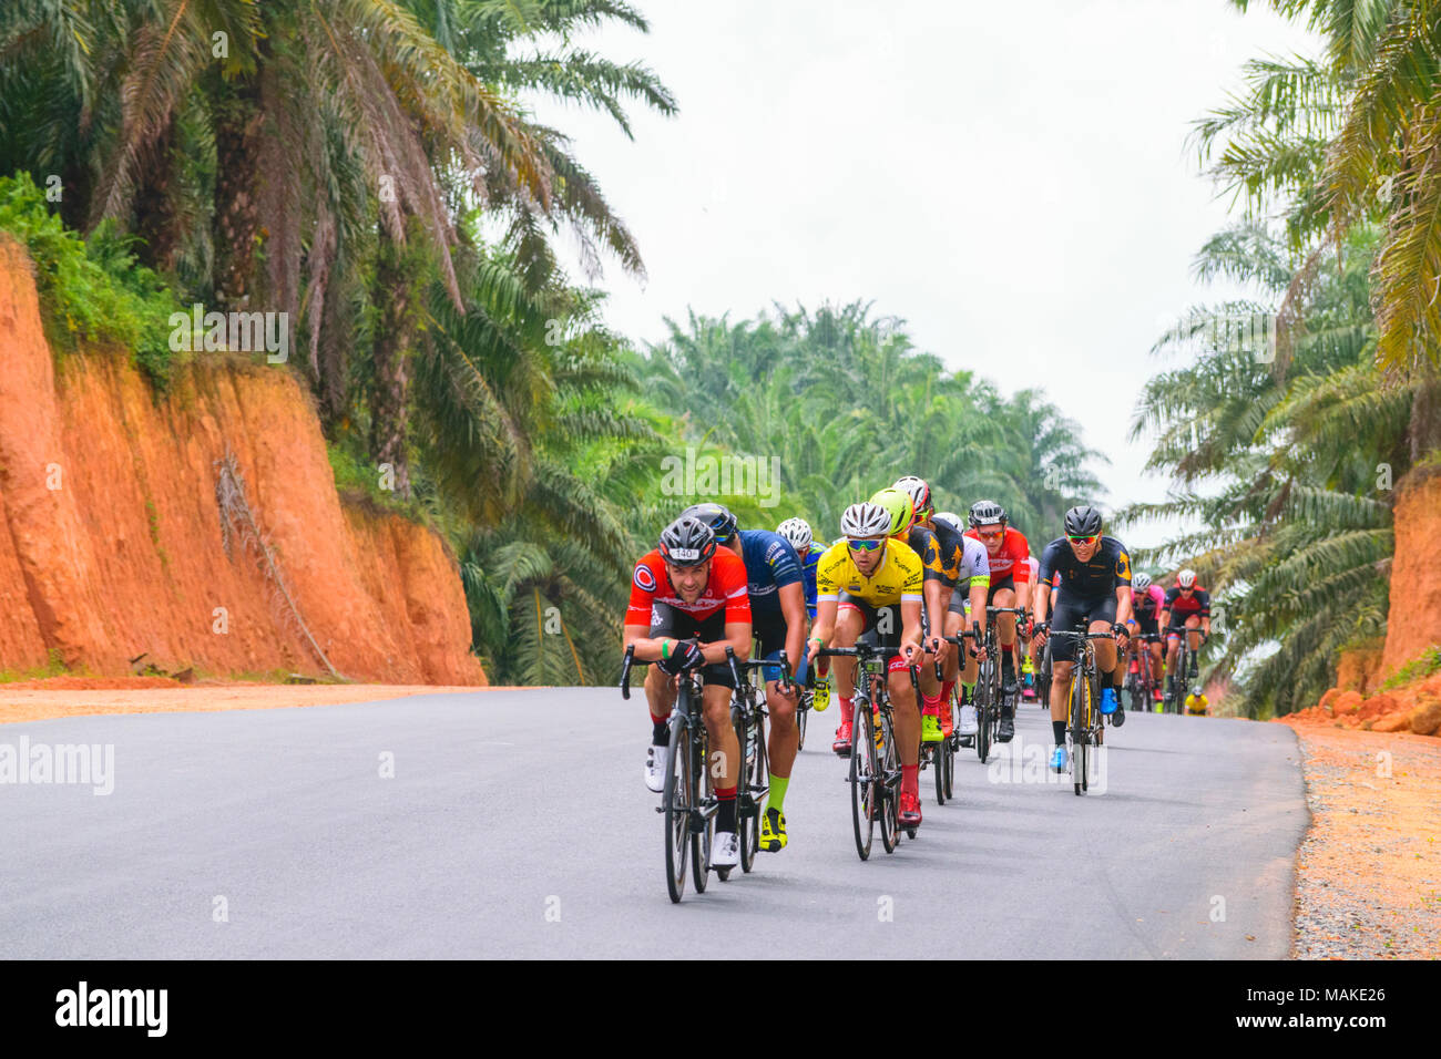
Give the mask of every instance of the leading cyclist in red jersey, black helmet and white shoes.
[{"label": "leading cyclist in red jersey, black helmet and white shoes", "polygon": [[749,657],[751,601],[745,563],[733,552],[718,550],[715,532],[700,519],[676,519],[661,530],[659,546],[635,563],[625,609],[625,647],[635,648],[637,661],[656,663],[646,674],[651,723],[646,787],[657,794],[664,785],[676,676],[692,669],[702,671],[702,719],[712,754],[720,755],[710,863],[733,867],[741,860],[735,830],[739,742],[731,725],[735,679],[725,648],[733,648],[738,658]]}]

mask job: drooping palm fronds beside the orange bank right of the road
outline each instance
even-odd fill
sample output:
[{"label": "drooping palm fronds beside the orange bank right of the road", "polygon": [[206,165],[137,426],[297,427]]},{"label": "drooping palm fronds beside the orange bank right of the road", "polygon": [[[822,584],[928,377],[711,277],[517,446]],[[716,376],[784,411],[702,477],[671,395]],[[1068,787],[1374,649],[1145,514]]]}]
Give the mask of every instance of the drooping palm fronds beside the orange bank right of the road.
[{"label": "drooping palm fronds beside the orange bank right of the road", "polygon": [[1133,419],[1133,437],[1154,437],[1147,465],[1176,487],[1167,503],[1136,504],[1124,517],[1186,514],[1203,524],[1136,560],[1192,566],[1209,585],[1225,615],[1212,674],[1236,677],[1238,713],[1310,706],[1334,683],[1337,651],[1385,631],[1395,537],[1392,493],[1378,488],[1376,467],[1389,463],[1396,477],[1409,467],[1412,388],[1375,365],[1366,277],[1378,241],[1360,226],[1323,264],[1306,333],[1277,370],[1261,341],[1236,341],[1222,324],[1274,311],[1293,278],[1282,242],[1254,225],[1210,239],[1197,275],[1249,280],[1271,301],[1187,314],[1156,343],[1180,365],[1150,379]]}]

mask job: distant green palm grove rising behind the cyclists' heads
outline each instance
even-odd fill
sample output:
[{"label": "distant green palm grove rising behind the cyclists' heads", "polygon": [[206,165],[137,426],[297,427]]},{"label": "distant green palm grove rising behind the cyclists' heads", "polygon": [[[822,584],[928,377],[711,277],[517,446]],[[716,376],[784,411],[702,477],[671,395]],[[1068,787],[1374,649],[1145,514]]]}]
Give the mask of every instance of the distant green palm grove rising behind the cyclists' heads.
[{"label": "distant green palm grove rising behind the cyclists' heads", "polygon": [[847,504],[919,474],[937,510],[991,497],[1013,524],[1043,537],[1059,532],[1066,507],[1099,491],[1088,463],[1104,457],[1039,392],[1003,399],[968,372],[947,370],[912,347],[901,320],[873,318],[869,304],[669,324],[670,337],[638,366],[686,442],[667,455],[690,461],[693,448],[697,467],[708,457],[777,460],[778,496],[651,491],[647,519],[715,499],[742,526],[772,529],[800,514],[830,539]]}]

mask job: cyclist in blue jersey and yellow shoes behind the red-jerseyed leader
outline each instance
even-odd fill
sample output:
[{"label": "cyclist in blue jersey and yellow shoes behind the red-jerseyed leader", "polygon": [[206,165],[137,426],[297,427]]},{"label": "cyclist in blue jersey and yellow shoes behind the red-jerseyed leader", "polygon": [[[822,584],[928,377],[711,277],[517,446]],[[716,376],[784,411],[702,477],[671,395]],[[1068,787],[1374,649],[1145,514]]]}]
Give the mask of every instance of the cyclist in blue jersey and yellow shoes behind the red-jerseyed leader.
[{"label": "cyclist in blue jersey and yellow shoes behind the red-jerseyed leader", "polygon": [[[728,548],[745,562],[746,592],[751,596],[751,624],[759,641],[761,658],[777,661],[765,673],[765,707],[771,718],[769,787],[761,816],[761,849],[780,853],[785,836],[785,788],[791,782],[800,728],[795,725],[795,686],[791,677],[806,682],[806,592],[801,586],[801,562],[795,549],[772,530],[742,530],[736,517],[720,504],[695,504],[684,514],[710,526],[720,548]],[[795,673],[782,673],[781,648],[795,660]]]}]

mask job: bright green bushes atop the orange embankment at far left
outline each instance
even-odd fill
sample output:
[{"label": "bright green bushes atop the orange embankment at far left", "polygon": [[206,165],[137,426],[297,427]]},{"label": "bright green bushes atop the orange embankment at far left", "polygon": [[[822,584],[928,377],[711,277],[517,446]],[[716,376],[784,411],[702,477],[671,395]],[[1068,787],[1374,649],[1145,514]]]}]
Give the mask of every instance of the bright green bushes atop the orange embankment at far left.
[{"label": "bright green bushes atop the orange embankment at far left", "polygon": [[131,350],[135,365],[164,389],[173,359],[169,318],[180,307],[154,272],[135,265],[127,241],[110,226],[89,239],[66,229],[29,173],[0,177],[0,231],[30,252],[53,349]]}]

